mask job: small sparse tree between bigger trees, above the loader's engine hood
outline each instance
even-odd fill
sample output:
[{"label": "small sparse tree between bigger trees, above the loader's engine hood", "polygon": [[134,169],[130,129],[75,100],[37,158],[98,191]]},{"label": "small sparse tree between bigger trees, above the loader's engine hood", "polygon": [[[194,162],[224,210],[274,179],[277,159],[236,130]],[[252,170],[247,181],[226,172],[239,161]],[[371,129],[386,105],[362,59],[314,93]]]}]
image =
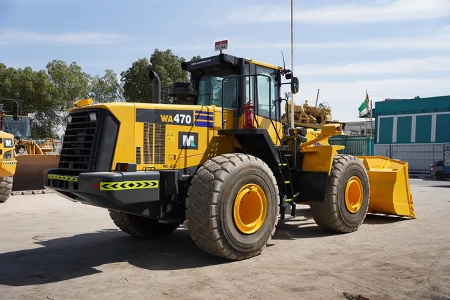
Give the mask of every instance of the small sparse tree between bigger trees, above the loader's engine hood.
[{"label": "small sparse tree between bigger trees, above the loader's engine hood", "polygon": [[107,69],[102,77],[99,75],[92,77],[89,81],[89,98],[96,103],[122,101],[122,86],[117,80],[117,74]]}]

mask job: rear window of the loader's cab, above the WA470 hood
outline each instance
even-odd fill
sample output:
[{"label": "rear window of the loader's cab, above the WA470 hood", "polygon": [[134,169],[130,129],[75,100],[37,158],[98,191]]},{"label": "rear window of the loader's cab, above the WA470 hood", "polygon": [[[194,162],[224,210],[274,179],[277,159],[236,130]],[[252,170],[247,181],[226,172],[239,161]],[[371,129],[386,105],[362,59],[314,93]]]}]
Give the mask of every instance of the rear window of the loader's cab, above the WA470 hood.
[{"label": "rear window of the loader's cab, above the WA470 hood", "polygon": [[222,106],[223,96],[224,108],[236,109],[238,79],[234,70],[224,66],[208,67],[198,73],[197,78],[198,105]]}]

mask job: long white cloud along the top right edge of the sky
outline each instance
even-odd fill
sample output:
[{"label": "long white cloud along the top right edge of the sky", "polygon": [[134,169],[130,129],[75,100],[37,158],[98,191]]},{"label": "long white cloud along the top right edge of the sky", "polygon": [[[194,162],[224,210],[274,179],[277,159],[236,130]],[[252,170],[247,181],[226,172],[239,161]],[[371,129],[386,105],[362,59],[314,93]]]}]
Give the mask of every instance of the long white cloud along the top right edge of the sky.
[{"label": "long white cloud along the top right edge of the sky", "polygon": [[[450,15],[449,0],[373,1],[302,8],[295,6],[295,21],[309,24],[400,22],[430,20]],[[290,6],[250,6],[235,8],[216,23],[290,22]]]}]

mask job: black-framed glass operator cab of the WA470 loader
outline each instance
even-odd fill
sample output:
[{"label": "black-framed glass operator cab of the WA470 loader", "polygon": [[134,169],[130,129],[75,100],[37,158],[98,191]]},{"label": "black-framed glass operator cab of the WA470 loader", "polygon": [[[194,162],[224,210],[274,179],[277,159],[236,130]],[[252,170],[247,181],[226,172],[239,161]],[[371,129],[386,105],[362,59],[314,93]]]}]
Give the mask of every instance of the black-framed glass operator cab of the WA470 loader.
[{"label": "black-framed glass operator cab of the WA470 loader", "polygon": [[[286,84],[281,83],[281,75],[291,79],[289,70],[225,53],[185,62],[181,67],[191,73],[195,91],[191,104],[224,107],[240,117],[244,105],[252,103],[256,116],[281,122],[281,85]],[[287,84],[292,83],[298,89],[298,79]]]}]

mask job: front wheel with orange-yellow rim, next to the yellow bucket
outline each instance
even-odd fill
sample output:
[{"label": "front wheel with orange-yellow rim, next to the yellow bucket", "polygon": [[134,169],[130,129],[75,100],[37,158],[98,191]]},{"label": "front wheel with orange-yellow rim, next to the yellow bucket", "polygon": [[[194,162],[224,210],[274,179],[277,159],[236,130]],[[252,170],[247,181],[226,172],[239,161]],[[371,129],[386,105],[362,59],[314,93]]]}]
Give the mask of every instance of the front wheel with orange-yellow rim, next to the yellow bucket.
[{"label": "front wheel with orange-yellow rim, next to the yellow bucket", "polygon": [[335,155],[325,202],[310,202],[314,221],[337,233],[358,230],[366,219],[370,186],[364,164],[352,155]]}]

